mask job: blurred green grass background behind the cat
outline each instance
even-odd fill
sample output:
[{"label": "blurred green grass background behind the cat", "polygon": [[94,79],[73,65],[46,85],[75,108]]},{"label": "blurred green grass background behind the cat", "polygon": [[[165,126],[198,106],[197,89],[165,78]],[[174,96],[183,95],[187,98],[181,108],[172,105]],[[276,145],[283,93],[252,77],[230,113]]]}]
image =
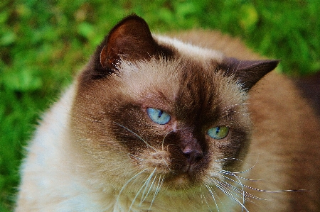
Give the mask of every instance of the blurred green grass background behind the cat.
[{"label": "blurred green grass background behind the cat", "polygon": [[320,1],[0,2],[0,211],[12,211],[23,146],[41,111],[85,65],[108,30],[137,13],[161,33],[211,28],[282,60],[294,76],[320,70]]}]

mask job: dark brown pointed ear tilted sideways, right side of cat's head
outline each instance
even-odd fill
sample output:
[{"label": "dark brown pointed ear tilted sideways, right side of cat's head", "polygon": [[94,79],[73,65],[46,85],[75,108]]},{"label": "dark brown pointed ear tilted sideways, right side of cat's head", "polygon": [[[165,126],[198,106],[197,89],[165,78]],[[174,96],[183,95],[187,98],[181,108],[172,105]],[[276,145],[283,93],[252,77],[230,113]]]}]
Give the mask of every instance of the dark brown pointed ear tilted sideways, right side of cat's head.
[{"label": "dark brown pointed ear tilted sideways, right side of cat's head", "polygon": [[233,57],[226,57],[220,64],[225,74],[234,75],[242,88],[250,90],[265,74],[277,67],[279,60],[237,60]]}]

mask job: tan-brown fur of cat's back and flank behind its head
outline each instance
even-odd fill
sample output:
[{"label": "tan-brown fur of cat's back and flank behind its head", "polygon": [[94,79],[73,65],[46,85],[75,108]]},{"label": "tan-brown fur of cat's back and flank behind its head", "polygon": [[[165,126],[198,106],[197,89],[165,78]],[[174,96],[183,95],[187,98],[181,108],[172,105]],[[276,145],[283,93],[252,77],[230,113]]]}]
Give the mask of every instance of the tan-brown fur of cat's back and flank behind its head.
[{"label": "tan-brown fur of cat's back and flank behind its head", "polygon": [[[195,30],[176,37],[242,60],[261,58],[240,40],[221,33]],[[318,98],[310,91],[308,94]],[[250,91],[249,108],[254,133],[246,161],[255,164],[250,178],[263,179],[251,185],[271,190],[305,189],[278,194],[256,191],[257,196],[272,201],[255,201],[252,211],[319,211],[320,124],[312,104],[302,97],[294,81],[270,73]]]}]

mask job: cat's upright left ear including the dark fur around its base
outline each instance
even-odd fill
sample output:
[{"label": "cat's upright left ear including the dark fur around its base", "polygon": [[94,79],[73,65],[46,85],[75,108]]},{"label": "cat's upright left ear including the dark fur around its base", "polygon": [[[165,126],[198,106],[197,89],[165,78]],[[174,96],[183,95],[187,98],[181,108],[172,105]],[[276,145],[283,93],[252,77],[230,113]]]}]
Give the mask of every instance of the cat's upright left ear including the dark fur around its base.
[{"label": "cat's upright left ear including the dark fur around its base", "polygon": [[151,35],[149,26],[144,19],[137,15],[127,16],[120,21],[109,35],[98,46],[95,54],[82,72],[82,79],[101,79],[119,71],[122,60],[134,62],[149,60],[151,57],[171,57],[170,48],[156,43]]}]

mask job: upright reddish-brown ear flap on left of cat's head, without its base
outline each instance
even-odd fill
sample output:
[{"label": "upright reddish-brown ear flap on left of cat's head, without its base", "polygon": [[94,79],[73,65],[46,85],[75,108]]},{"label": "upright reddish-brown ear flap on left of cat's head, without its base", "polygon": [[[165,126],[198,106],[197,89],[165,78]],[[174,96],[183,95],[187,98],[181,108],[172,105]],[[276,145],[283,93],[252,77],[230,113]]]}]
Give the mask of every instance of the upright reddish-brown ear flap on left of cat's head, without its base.
[{"label": "upright reddish-brown ear flap on left of cat's head, without its base", "polygon": [[117,69],[122,59],[147,59],[157,51],[149,26],[137,15],[128,16],[114,26],[103,45],[100,64],[105,69]]}]

